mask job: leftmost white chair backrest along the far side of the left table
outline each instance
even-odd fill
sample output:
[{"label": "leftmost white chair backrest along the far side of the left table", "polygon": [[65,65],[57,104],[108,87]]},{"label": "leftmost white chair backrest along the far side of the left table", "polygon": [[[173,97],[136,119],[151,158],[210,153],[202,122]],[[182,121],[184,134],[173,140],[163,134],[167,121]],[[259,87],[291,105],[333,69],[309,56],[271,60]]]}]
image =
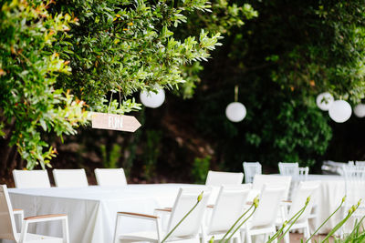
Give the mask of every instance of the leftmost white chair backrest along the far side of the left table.
[{"label": "leftmost white chair backrest along the far side of the left table", "polygon": [[16,188],[48,188],[51,187],[47,170],[13,170]]}]

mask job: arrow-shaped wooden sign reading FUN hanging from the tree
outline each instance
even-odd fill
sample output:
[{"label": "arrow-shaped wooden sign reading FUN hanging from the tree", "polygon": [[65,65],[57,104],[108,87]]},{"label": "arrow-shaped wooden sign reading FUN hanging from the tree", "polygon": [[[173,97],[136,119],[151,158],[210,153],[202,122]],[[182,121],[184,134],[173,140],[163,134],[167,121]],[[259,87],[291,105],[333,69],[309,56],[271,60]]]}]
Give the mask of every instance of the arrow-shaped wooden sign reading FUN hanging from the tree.
[{"label": "arrow-shaped wooden sign reading FUN hanging from the tree", "polygon": [[134,132],[141,127],[141,123],[134,116],[93,112],[91,114],[91,127]]}]

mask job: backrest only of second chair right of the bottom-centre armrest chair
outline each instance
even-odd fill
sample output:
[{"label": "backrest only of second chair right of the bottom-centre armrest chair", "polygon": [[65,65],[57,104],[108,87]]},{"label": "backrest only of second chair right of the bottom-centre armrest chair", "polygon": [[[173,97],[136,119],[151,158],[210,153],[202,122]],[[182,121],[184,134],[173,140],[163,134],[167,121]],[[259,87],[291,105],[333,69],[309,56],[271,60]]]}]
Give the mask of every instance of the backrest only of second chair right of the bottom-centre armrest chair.
[{"label": "backrest only of second chair right of the bottom-centre armrest chair", "polygon": [[270,226],[276,222],[280,202],[282,201],[286,187],[273,187],[265,185],[260,193],[258,207],[252,216],[251,227]]}]

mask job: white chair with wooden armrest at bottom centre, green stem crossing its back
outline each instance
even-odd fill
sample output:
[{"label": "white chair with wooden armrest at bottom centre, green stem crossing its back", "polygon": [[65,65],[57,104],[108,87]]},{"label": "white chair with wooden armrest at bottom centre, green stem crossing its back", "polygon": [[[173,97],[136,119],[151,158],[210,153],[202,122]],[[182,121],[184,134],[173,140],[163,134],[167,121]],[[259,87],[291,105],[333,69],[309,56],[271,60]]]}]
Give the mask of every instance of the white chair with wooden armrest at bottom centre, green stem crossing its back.
[{"label": "white chair with wooden armrest at bottom centre, green stem crossing its back", "polygon": [[[171,216],[169,219],[167,230],[162,229],[161,218],[154,215],[144,215],[131,212],[117,213],[117,222],[114,233],[114,243],[130,242],[130,241],[149,241],[159,243],[167,234],[174,228],[179,221],[193,208],[197,203],[197,197],[203,190],[203,198],[193,209],[191,214],[186,217],[183,222],[172,232],[166,241],[178,241],[183,239],[190,239],[199,242],[199,230],[203,223],[203,214],[206,208],[208,197],[210,195],[210,188],[184,187],[180,188],[178,196],[172,207]],[[133,233],[121,234],[122,218],[140,218],[141,220],[150,220],[155,223],[156,229],[151,231],[141,231]]]}]

